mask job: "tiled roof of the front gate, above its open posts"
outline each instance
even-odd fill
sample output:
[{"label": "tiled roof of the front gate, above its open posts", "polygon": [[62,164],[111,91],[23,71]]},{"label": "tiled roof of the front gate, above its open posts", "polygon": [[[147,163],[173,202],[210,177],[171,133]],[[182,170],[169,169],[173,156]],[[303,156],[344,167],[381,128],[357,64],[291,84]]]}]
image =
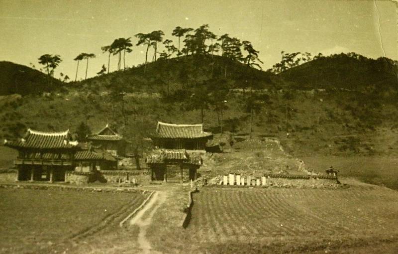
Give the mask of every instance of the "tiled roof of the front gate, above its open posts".
[{"label": "tiled roof of the front gate, above its open posts", "polygon": [[186,164],[202,164],[200,155],[188,154],[186,150],[155,150],[145,159],[147,164],[168,163],[176,160]]}]

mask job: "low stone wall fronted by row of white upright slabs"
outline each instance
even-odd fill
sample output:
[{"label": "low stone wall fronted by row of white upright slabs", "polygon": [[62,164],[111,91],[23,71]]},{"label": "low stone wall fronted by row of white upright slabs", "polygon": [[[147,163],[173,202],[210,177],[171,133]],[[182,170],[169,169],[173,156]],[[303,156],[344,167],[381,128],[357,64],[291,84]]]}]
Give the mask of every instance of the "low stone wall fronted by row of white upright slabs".
[{"label": "low stone wall fronted by row of white upright slabs", "polygon": [[217,184],[229,186],[296,187],[296,188],[336,188],[339,182],[333,175],[286,175],[264,176],[223,175]]}]

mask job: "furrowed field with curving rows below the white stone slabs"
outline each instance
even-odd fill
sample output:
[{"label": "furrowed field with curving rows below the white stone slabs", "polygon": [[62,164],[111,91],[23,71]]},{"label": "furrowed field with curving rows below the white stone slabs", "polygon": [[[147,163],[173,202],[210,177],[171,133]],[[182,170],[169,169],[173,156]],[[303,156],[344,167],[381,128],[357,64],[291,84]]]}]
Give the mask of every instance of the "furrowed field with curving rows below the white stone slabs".
[{"label": "furrowed field with curving rows below the white stone slabs", "polygon": [[214,252],[305,252],[396,241],[397,221],[398,192],[383,187],[202,188],[188,230]]}]

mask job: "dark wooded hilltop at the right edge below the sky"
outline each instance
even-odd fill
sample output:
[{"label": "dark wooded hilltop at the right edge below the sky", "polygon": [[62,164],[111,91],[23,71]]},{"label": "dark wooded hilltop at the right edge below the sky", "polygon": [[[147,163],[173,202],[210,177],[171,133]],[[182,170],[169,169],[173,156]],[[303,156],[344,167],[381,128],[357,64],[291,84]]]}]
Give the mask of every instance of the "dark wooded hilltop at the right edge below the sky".
[{"label": "dark wooded hilltop at the right edge below the sky", "polygon": [[380,57],[370,59],[349,53],[320,57],[279,76],[298,89],[349,89],[378,92],[398,89],[397,61]]}]

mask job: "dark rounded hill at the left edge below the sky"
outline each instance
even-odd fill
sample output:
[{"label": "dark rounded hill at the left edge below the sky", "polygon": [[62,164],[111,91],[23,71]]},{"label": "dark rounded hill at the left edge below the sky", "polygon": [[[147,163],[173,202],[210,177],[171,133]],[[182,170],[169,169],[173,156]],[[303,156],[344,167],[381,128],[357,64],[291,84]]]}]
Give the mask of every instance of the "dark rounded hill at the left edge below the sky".
[{"label": "dark rounded hill at the left edge below the sky", "polygon": [[38,70],[6,61],[0,61],[0,84],[0,95],[40,94],[63,85],[54,78],[49,81],[48,76]]}]

